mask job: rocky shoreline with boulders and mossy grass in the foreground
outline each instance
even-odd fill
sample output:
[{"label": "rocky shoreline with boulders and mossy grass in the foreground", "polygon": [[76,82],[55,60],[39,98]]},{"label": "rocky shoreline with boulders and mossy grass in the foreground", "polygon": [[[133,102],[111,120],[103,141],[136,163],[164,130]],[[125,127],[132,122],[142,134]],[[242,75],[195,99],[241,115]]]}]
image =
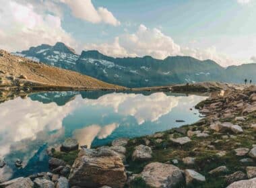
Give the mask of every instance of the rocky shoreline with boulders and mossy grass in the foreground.
[{"label": "rocky shoreline with boulders and mossy grass in the foreground", "polygon": [[221,94],[196,106],[205,118],[192,125],[100,148],[69,138],[49,150],[51,173],[0,187],[256,187],[256,87]]}]

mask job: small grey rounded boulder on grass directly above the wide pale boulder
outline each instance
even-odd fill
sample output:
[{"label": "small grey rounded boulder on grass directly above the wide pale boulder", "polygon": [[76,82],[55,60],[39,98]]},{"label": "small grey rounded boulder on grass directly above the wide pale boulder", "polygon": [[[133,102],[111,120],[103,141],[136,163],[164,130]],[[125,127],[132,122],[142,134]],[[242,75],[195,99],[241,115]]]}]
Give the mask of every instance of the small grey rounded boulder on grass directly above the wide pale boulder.
[{"label": "small grey rounded boulder on grass directly above the wide pale boulder", "polygon": [[152,150],[149,146],[139,145],[135,147],[132,160],[148,160],[152,158]]}]

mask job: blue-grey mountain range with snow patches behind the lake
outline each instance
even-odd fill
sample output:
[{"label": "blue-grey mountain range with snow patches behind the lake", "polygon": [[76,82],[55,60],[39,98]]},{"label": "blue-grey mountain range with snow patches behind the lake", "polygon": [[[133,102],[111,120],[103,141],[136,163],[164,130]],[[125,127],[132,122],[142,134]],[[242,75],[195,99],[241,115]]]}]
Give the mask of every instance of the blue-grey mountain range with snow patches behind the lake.
[{"label": "blue-grey mountain range with snow patches behind the lake", "polygon": [[114,58],[97,50],[82,51],[82,54],[78,55],[75,50],[61,42],[54,46],[42,44],[13,54],[125,87],[201,81],[243,83],[245,78],[256,81],[256,64],[224,68],[213,60],[198,60],[190,56],[168,56],[164,60],[151,56]]}]

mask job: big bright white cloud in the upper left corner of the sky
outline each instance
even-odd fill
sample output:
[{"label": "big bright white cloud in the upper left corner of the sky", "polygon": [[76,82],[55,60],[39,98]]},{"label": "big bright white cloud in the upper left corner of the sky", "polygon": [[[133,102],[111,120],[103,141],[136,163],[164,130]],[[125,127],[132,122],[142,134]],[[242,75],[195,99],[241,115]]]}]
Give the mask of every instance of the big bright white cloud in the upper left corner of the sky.
[{"label": "big bright white cloud in the upper left corner of the sky", "polygon": [[0,48],[8,51],[24,50],[57,41],[75,46],[71,34],[61,27],[61,17],[38,13],[32,3],[0,0]]}]

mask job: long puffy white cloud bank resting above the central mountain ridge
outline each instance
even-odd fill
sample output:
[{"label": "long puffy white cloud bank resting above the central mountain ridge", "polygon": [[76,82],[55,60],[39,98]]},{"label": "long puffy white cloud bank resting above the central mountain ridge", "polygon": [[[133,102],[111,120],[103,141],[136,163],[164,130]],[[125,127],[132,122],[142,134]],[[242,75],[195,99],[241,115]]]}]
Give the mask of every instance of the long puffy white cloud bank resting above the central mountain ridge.
[{"label": "long puffy white cloud bank resting above the central mountain ridge", "polygon": [[99,50],[108,56],[147,56],[164,59],[168,56],[192,56],[199,60],[211,59],[222,66],[237,62],[226,54],[217,52],[214,46],[201,50],[187,48],[176,44],[170,36],[166,36],[157,28],[149,29],[140,25],[133,34],[122,34],[113,43],[87,44],[86,49]]}]

